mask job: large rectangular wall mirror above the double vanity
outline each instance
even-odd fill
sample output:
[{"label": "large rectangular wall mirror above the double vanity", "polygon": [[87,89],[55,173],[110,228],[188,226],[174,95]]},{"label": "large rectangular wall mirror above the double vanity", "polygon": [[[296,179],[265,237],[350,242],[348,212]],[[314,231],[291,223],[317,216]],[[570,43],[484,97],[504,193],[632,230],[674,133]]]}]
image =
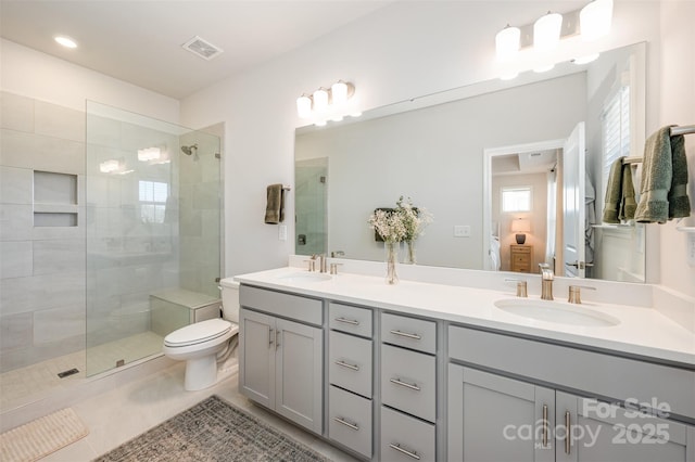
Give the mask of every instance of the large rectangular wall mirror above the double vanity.
[{"label": "large rectangular wall mirror above the double vanity", "polygon": [[[418,265],[547,264],[557,274],[644,282],[644,227],[601,218],[610,164],[642,153],[645,74],[637,43],[299,128],[295,253],[383,260],[367,220],[406,196],[433,216]],[[505,205],[510,194],[527,203]],[[518,251],[528,265],[514,264]]]}]

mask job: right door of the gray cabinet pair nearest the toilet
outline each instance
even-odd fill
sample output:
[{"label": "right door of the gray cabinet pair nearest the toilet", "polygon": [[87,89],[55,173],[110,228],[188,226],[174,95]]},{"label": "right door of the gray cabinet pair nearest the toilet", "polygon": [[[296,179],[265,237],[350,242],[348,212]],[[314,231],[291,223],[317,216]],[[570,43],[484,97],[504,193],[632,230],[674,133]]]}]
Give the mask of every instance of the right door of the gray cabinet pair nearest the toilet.
[{"label": "right door of the gray cabinet pair nearest the toilet", "polygon": [[276,320],[275,410],[318,434],[323,432],[323,331]]}]

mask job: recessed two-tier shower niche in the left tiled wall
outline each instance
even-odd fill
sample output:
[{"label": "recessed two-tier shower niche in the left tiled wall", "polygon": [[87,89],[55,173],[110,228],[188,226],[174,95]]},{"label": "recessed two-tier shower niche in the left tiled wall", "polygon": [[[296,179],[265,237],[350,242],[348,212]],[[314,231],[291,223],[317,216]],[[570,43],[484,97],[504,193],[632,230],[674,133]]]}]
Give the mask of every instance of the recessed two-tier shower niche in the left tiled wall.
[{"label": "recessed two-tier shower niche in the left tiled wall", "polygon": [[77,227],[77,175],[34,171],[34,227]]}]

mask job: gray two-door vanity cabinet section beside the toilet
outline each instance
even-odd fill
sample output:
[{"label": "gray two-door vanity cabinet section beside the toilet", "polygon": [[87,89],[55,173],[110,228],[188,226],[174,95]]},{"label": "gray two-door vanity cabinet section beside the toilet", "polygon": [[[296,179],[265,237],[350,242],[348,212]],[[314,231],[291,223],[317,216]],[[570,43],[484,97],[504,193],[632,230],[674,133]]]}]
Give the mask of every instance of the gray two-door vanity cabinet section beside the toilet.
[{"label": "gray two-door vanity cabinet section beside the toilet", "polygon": [[[317,320],[320,325],[321,301],[243,285],[239,296],[240,392],[321,434],[323,329],[309,325]],[[276,312],[294,312],[298,319]]]}]

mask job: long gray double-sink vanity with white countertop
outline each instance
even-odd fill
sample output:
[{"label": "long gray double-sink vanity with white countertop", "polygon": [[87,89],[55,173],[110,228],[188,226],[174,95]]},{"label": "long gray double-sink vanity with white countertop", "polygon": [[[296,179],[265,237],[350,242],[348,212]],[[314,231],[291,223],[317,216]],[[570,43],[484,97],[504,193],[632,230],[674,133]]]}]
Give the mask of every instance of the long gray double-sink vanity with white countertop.
[{"label": "long gray double-sink vanity with white countertop", "polygon": [[695,460],[695,334],[653,308],[292,267],[236,279],[241,393],[355,457]]}]

